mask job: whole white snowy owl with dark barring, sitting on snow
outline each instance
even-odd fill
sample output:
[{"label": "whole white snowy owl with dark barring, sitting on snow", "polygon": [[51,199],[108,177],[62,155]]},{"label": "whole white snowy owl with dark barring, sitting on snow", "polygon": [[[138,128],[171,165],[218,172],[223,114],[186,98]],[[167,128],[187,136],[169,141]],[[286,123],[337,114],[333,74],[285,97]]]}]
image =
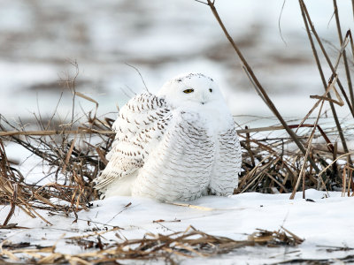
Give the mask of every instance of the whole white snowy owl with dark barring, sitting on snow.
[{"label": "whole white snowy owl with dark barring, sitting on snow", "polygon": [[227,196],[237,187],[241,147],[234,119],[204,74],[182,74],[157,95],[136,95],[112,128],[109,163],[95,179],[103,197],[190,201]]}]

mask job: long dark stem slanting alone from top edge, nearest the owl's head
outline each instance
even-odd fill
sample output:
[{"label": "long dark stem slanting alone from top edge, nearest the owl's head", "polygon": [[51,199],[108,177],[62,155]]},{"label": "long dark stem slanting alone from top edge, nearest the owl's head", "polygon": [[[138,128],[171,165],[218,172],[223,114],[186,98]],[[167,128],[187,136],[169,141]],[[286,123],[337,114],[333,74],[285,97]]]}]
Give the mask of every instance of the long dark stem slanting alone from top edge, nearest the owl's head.
[{"label": "long dark stem slanting alone from top edge, nearest the owl's head", "polygon": [[[294,133],[290,128],[289,125],[287,125],[287,123],[285,122],[285,120],[283,119],[283,117],[281,117],[281,114],[279,113],[279,111],[276,109],[276,107],[274,106],[272,100],[269,98],[269,96],[266,94],[266,90],[262,87],[262,85],[259,83],[256,75],[254,74],[254,72],[252,71],[252,69],[250,68],[250,64],[247,63],[246,59],[243,57],[242,52],[240,51],[240,49],[238,49],[237,45],[235,44],[234,40],[232,39],[232,37],[230,36],[230,34],[228,34],[227,32],[227,28],[224,26],[224,23],[221,21],[220,17],[219,17],[219,13],[215,8],[215,5],[213,4],[213,2],[211,0],[207,0],[209,7],[212,10],[213,15],[215,16],[215,18],[218,20],[219,22],[219,26],[221,27],[222,31],[224,32],[224,34],[227,37],[227,40],[231,43],[231,45],[233,46],[233,48],[235,49],[235,52],[237,53],[237,56],[240,57],[242,64],[244,66],[244,68],[246,69],[247,72],[250,73],[250,77],[253,80],[254,84],[256,85],[256,87],[258,87],[258,91],[263,95],[263,98],[265,99],[269,109],[271,109],[273,111],[273,114],[279,119],[279,121],[281,122],[281,125],[284,126],[284,129],[289,133],[290,137],[295,141],[297,147],[301,150],[301,152],[305,155],[306,154],[306,150],[303,146],[303,144],[300,142],[300,140],[298,140],[296,133]],[[316,170],[316,172],[319,173],[319,168],[316,165],[316,163],[312,160],[311,157],[309,157],[309,162],[312,164],[312,167],[314,170]]]}]

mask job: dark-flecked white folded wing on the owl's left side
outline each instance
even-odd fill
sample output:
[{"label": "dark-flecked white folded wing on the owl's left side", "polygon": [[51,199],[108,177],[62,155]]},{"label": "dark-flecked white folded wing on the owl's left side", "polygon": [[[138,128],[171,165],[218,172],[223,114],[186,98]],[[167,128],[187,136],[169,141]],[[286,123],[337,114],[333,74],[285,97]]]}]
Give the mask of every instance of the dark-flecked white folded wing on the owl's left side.
[{"label": "dark-flecked white folded wing on the owl's left side", "polygon": [[112,125],[116,136],[107,154],[109,163],[95,179],[97,190],[104,193],[113,181],[137,174],[165,133],[170,112],[163,98],[151,94],[136,95],[121,108]]}]

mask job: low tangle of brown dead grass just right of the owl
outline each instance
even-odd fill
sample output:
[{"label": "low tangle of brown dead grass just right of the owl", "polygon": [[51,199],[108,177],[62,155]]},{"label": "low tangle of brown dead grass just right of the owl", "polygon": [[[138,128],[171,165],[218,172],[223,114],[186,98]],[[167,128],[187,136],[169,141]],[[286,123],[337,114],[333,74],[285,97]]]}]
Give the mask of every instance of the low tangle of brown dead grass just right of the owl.
[{"label": "low tangle of brown dead grass just right of the owl", "polygon": [[[327,121],[328,118],[323,120]],[[296,128],[299,123],[300,121],[295,121],[289,126]],[[307,148],[311,148],[309,156],[317,164],[319,173],[294,148],[289,136],[280,135],[281,126],[239,130],[243,139],[241,145],[244,171],[235,193],[291,193],[309,188],[350,193],[353,170],[345,163],[348,154],[338,150],[338,144],[329,140],[334,138],[335,128],[324,129],[319,125],[317,128],[318,131],[312,135],[314,140]],[[266,130],[269,133],[263,136]],[[313,125],[303,124],[297,134],[299,139],[307,140],[312,132]],[[344,132],[350,133],[350,128]],[[263,135],[260,136],[260,133]],[[298,185],[299,181],[302,181],[302,186]]]}]

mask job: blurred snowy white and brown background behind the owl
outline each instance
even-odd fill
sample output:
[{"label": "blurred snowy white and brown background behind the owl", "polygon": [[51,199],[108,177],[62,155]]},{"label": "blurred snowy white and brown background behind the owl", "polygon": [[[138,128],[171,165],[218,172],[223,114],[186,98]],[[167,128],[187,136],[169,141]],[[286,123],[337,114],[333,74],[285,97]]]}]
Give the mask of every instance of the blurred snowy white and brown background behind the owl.
[{"label": "blurred snowy white and brown background behind the owl", "polygon": [[[345,34],[353,25],[351,1],[338,2]],[[301,118],[314,103],[309,96],[322,95],[323,87],[298,2],[283,4],[283,0],[216,1],[221,19],[281,114]],[[339,42],[332,1],[306,4],[335,61]],[[351,53],[349,58],[352,66]],[[63,80],[73,78],[75,61],[79,65],[75,88],[99,103],[100,115],[116,112],[134,95],[132,91],[144,90],[139,74],[127,65],[131,64],[151,92],[181,72],[204,72],[218,81],[241,125],[254,116],[272,116],[204,4],[193,0],[0,2],[1,115],[30,120],[40,110],[42,117],[50,116],[62,93],[58,113],[63,119],[70,115],[72,92]],[[329,78],[327,68],[325,73]],[[92,102],[78,101],[77,111],[95,108]],[[348,114],[339,112],[342,117]]]}]

